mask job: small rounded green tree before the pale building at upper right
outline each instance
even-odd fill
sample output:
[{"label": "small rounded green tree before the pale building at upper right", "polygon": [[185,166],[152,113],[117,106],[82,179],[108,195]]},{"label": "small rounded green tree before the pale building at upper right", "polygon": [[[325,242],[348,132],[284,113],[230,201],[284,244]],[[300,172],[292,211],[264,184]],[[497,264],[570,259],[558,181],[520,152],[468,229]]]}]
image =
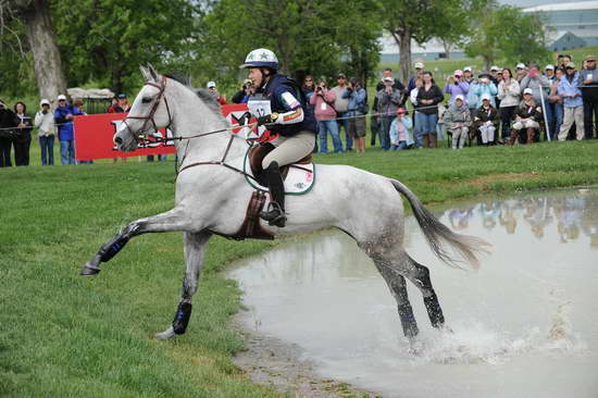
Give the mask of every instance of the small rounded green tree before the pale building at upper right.
[{"label": "small rounded green tree before the pale building at upper right", "polygon": [[523,13],[511,5],[490,7],[481,14],[477,30],[466,42],[470,57],[479,55],[486,69],[497,60],[508,63],[540,62],[550,59],[547,30],[540,14]]}]

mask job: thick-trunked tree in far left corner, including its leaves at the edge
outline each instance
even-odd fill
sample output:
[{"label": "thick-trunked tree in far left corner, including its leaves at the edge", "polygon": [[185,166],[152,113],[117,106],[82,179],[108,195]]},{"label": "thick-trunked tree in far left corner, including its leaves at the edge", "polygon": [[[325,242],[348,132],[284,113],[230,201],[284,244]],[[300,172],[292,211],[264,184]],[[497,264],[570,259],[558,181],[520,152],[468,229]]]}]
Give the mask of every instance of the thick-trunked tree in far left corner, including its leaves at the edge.
[{"label": "thick-trunked tree in far left corner, including its leaves at the edge", "polygon": [[46,0],[0,1],[0,26],[2,29],[9,29],[9,36],[20,42],[21,57],[25,58],[23,53],[25,45],[21,43],[20,38],[21,26],[24,26],[23,30],[27,37],[26,49],[32,54],[40,97],[57,98],[59,94],[66,92],[66,79],[49,2]]}]

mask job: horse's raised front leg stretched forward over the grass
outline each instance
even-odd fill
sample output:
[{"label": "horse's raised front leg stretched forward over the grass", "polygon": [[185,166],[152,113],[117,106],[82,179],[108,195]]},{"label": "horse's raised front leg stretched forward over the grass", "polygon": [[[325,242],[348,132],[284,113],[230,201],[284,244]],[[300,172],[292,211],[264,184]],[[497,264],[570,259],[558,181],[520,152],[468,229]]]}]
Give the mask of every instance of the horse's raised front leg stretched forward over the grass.
[{"label": "horse's raised front leg stretched forward over the grass", "polygon": [[91,260],[83,266],[80,275],[97,275],[102,270],[99,266],[100,263],[110,261],[134,236],[158,232],[187,231],[189,228],[189,217],[179,209],[134,221],[100,247]]}]

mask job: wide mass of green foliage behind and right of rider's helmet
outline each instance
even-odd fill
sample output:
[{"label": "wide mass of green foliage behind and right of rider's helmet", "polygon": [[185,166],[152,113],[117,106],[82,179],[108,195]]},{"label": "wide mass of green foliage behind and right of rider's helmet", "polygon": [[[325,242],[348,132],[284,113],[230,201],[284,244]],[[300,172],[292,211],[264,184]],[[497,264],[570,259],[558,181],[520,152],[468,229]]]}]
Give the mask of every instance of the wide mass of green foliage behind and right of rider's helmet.
[{"label": "wide mass of green foliage behind and right of rider's helmet", "polygon": [[207,71],[219,79],[236,80],[245,55],[262,47],[277,54],[283,73],[370,75],[379,51],[374,5],[373,0],[223,0],[207,15],[198,47],[220,66]]}]

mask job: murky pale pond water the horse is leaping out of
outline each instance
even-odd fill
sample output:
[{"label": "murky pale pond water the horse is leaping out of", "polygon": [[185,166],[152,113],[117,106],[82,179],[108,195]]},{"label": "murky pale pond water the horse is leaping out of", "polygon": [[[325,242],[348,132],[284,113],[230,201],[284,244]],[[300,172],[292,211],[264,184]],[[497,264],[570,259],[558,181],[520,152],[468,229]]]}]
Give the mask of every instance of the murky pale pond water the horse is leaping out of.
[{"label": "murky pale pond water the horse is leaping out of", "polygon": [[384,397],[598,397],[598,190],[527,195],[437,212],[494,245],[479,271],[444,265],[413,217],[406,246],[427,265],[453,333],[409,296],[421,352],[371,260],[326,232],[231,273],[247,327],[301,347],[323,377]]}]

